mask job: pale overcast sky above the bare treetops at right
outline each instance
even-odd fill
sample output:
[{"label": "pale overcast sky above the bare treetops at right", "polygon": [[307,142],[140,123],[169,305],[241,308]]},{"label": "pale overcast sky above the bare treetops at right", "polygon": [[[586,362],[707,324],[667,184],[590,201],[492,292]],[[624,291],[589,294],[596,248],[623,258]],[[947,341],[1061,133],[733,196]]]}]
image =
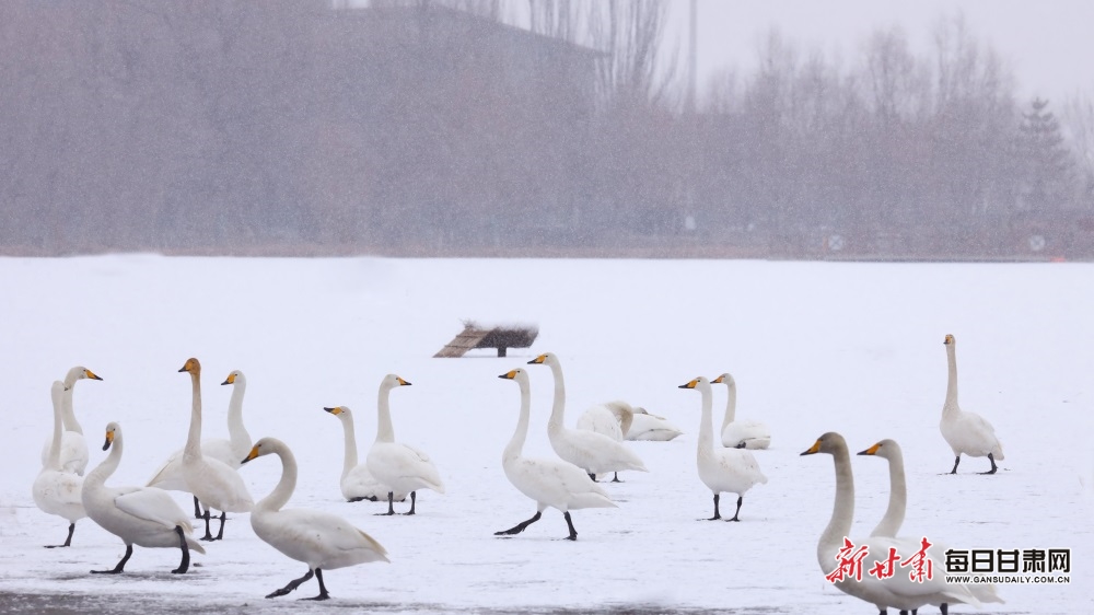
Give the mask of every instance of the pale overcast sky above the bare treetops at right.
[{"label": "pale overcast sky above the bare treetops at right", "polygon": [[[676,33],[687,32],[688,4],[673,0]],[[699,0],[698,7],[700,92],[719,70],[750,72],[757,42],[772,25],[799,45],[853,60],[871,32],[894,24],[917,53],[927,50],[938,19],[958,12],[977,40],[1008,60],[1020,95],[1062,102],[1094,92],[1094,0]]]}]

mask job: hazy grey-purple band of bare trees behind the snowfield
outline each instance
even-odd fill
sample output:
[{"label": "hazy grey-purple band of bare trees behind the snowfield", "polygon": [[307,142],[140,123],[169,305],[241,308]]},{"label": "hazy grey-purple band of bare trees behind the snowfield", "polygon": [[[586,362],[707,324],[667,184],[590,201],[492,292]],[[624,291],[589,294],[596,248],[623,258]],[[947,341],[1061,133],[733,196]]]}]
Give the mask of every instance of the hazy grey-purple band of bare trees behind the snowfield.
[{"label": "hazy grey-purple band of bare trees behind the snowfield", "polygon": [[690,112],[663,1],[520,7],[0,2],[0,252],[1094,255],[1094,109],[961,18]]}]

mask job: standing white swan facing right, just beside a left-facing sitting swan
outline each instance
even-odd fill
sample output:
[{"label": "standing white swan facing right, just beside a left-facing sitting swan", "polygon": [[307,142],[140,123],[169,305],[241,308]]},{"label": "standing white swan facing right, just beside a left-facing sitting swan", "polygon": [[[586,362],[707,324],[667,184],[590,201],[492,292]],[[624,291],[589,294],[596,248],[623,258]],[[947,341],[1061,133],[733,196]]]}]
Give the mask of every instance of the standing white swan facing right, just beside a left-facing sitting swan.
[{"label": "standing white swan facing right, just beside a left-facing sitting swan", "polygon": [[396,386],[410,386],[410,383],[395,374],[387,374],[380,382],[380,395],[376,399],[376,440],[369,449],[365,464],[376,480],[391,489],[387,492],[385,514],[395,514],[395,491],[410,492],[410,510],[407,514],[414,514],[418,499],[416,491],[432,489],[443,494],[444,484],[429,455],[409,444],[395,441],[388,397],[392,388]]}]

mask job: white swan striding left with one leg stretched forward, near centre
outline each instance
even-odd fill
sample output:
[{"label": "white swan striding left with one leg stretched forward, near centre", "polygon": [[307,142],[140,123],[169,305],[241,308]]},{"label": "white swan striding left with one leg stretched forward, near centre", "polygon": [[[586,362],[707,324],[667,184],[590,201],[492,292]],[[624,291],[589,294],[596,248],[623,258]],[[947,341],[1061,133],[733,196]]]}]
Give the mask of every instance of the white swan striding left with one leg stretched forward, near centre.
[{"label": "white swan striding left with one leg stretched forward, near centre", "polygon": [[561,460],[533,459],[522,454],[524,441],[528,437],[528,415],[532,407],[532,395],[528,386],[528,373],[515,369],[498,378],[515,380],[521,387],[521,418],[516,421],[516,431],[501,455],[501,465],[505,468],[505,477],[522,494],[536,501],[536,514],[527,521],[501,532],[496,536],[520,534],[525,527],[539,521],[544,509],[556,508],[566,518],[570,529],[567,539],[577,541],[578,531],[573,529],[570,510],[582,508],[615,508],[615,502],[607,492],[580,467]]}]

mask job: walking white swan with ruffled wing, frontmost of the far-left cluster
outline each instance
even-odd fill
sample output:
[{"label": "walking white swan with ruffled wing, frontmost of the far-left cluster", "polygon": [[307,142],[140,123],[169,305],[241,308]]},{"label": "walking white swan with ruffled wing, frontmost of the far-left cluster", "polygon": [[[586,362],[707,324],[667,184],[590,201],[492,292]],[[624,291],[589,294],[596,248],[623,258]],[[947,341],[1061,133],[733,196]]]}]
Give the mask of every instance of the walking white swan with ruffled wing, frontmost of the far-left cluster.
[{"label": "walking white swan with ruffled wing, frontmost of the far-left cluster", "polygon": [[92,570],[95,573],[117,575],[133,554],[133,545],[142,547],[179,548],[183,559],[175,575],[186,572],[190,567],[190,550],[205,553],[205,547],[194,539],[194,526],[183,509],[178,508],[171,494],[154,487],[107,487],[106,479],[121,463],[124,448],[121,427],[116,422],[106,426],[106,443],[110,449],[95,469],[88,474],[83,484],[83,507],[88,517],[104,530],[121,538],[126,544],[126,555],[112,570]]}]

